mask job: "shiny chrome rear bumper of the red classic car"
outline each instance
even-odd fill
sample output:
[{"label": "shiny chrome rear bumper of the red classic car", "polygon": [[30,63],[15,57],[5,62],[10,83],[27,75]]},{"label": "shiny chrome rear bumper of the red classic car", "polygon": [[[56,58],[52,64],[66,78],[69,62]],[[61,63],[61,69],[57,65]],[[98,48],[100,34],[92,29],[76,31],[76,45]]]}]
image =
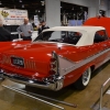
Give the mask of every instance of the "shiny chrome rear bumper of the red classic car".
[{"label": "shiny chrome rear bumper of the red classic car", "polygon": [[54,91],[62,89],[63,84],[64,84],[63,79],[58,79],[55,82],[44,82],[44,81],[33,80],[28,77],[12,75],[12,74],[6,74],[6,73],[0,73],[0,77],[10,79],[10,80],[19,82],[19,84],[24,84],[26,86],[33,86],[33,87],[37,87],[37,88],[54,90]]}]

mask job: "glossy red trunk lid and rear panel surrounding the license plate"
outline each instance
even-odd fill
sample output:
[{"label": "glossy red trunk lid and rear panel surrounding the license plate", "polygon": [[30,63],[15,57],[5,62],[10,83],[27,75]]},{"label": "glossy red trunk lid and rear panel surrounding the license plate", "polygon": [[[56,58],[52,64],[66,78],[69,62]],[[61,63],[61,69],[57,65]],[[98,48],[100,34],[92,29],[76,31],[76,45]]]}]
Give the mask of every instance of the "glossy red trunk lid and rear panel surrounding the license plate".
[{"label": "glossy red trunk lid and rear panel surrounding the license plate", "polygon": [[4,52],[3,55],[4,57],[9,57],[9,61],[11,61],[11,57],[22,58],[24,62],[24,67],[13,65],[12,63],[4,63],[2,68],[8,69],[9,73],[23,75],[31,78],[47,77],[50,76],[52,52],[55,51],[58,55],[63,55],[66,50],[67,48],[64,45],[61,51],[58,43],[38,42],[28,45],[19,45]]}]

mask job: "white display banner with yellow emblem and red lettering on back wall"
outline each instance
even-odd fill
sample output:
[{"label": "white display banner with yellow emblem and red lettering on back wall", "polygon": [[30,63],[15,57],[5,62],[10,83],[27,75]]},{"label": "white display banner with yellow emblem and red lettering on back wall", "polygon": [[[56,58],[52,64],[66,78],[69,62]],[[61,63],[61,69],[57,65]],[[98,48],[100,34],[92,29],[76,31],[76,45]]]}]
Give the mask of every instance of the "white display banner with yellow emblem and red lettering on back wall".
[{"label": "white display banner with yellow emblem and red lettering on back wall", "polygon": [[0,9],[0,19],[4,25],[20,25],[24,18],[28,18],[26,10]]}]

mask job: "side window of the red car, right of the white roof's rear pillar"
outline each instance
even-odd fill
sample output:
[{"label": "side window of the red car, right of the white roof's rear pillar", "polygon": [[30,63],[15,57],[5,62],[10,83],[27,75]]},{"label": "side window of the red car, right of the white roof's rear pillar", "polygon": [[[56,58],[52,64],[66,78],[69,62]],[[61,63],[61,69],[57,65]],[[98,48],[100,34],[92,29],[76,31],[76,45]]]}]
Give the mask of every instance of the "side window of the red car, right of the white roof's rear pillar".
[{"label": "side window of the red car, right of the white roof's rear pillar", "polygon": [[107,33],[105,30],[97,31],[94,37],[94,43],[99,43],[108,40]]}]

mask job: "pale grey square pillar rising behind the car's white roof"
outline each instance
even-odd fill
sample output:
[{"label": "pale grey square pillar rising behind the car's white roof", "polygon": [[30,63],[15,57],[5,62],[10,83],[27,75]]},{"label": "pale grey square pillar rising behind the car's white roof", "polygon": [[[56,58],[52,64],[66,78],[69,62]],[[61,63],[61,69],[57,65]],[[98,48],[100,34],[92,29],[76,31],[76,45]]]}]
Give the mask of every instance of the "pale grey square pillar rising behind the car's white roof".
[{"label": "pale grey square pillar rising behind the car's white roof", "polygon": [[61,1],[45,0],[46,23],[50,28],[61,26]]}]

